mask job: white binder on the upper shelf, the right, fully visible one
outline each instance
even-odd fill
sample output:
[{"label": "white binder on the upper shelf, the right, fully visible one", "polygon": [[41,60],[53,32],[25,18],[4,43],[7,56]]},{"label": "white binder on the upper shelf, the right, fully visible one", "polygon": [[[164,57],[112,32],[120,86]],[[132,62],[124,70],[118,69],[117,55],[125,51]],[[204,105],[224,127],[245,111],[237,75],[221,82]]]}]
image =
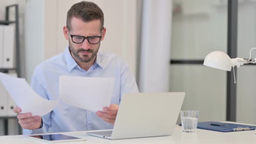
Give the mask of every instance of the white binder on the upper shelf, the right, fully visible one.
[{"label": "white binder on the upper shelf, the right, fully visible one", "polygon": [[3,59],[2,66],[13,69],[14,66],[14,25],[3,26]]}]

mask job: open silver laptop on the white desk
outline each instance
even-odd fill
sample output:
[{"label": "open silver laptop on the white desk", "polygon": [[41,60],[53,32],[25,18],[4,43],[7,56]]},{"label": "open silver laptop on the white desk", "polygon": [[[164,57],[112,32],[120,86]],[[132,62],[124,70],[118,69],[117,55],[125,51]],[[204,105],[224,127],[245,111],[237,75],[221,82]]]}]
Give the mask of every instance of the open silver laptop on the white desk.
[{"label": "open silver laptop on the white desk", "polygon": [[185,92],[124,94],[112,131],[87,132],[107,139],[172,135]]}]

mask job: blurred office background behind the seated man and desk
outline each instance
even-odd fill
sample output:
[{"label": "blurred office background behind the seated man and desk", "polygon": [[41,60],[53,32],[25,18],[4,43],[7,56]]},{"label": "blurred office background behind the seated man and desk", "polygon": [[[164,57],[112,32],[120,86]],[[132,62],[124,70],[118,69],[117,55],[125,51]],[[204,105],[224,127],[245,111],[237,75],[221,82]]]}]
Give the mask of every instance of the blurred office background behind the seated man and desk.
[{"label": "blurred office background behind the seated man and desk", "polygon": [[[0,72],[30,83],[36,65],[62,53],[68,45],[62,28],[67,11],[79,1],[1,0]],[[237,46],[232,49],[237,57],[249,58],[250,49],[256,46],[256,0],[233,0],[235,5],[231,0],[90,1],[105,15],[107,33],[100,50],[116,53],[129,62],[140,92],[186,92],[181,109],[200,111],[198,121],[256,124],[256,67],[243,65],[237,69],[236,88],[229,90],[228,85],[233,85],[227,80],[230,72],[203,65],[208,53],[228,52],[232,23],[237,24],[237,34],[232,35],[237,37],[232,42]],[[231,23],[228,7],[235,6],[237,21]],[[1,42],[6,27],[12,27],[9,32],[13,35]],[[13,43],[13,50],[4,50],[4,43]],[[6,57],[10,57],[7,62]],[[256,57],[255,51],[252,57]],[[227,97],[230,91],[234,93],[231,99]],[[0,85],[0,106],[13,107],[9,97]],[[21,134],[11,107],[0,110],[0,135]]]}]

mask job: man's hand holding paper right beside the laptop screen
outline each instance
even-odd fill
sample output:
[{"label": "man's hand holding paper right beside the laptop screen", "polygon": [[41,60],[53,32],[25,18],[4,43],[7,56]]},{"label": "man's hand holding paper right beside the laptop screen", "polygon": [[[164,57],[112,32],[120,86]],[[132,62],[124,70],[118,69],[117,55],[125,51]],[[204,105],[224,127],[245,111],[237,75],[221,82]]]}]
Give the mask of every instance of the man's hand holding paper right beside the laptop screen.
[{"label": "man's hand holding paper right beside the laptop screen", "polygon": [[103,108],[103,111],[97,111],[96,115],[102,118],[104,121],[115,124],[115,118],[118,112],[119,105],[111,104],[109,107]]}]

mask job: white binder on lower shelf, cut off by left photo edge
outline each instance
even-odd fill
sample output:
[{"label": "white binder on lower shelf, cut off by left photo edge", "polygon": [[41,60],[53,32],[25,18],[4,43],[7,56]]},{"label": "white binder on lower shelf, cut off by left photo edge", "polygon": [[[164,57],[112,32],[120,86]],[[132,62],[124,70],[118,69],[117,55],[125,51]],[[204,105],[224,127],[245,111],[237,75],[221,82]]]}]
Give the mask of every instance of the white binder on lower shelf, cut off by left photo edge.
[{"label": "white binder on lower shelf, cut off by left photo edge", "polygon": [[7,116],[7,90],[0,82],[0,117]]}]

